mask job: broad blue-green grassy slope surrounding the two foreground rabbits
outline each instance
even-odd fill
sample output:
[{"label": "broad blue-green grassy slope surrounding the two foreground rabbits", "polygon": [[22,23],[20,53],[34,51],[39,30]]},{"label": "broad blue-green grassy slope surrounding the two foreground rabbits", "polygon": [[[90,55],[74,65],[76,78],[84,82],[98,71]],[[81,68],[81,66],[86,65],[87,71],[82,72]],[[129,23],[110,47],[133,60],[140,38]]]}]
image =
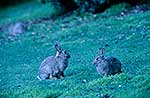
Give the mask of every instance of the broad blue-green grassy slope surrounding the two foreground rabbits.
[{"label": "broad blue-green grassy slope surrounding the two foreground rabbits", "polygon": [[[96,18],[84,15],[47,21],[32,25],[14,41],[1,39],[0,97],[150,97],[150,12],[110,16],[120,10],[113,7]],[[38,67],[44,58],[55,54],[55,41],[71,54],[66,77],[39,81]],[[106,44],[106,55],[121,60],[122,74],[101,77],[91,65],[98,48]]]}]

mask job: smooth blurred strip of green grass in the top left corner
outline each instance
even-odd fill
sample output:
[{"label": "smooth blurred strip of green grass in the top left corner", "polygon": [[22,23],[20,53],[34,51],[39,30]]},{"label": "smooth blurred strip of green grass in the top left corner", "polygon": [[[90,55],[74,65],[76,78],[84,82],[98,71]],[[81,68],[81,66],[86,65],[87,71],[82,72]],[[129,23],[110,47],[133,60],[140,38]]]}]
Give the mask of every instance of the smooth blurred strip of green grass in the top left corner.
[{"label": "smooth blurred strip of green grass in the top left corner", "polygon": [[50,3],[41,4],[31,1],[17,6],[0,9],[0,24],[16,21],[34,20],[41,17],[51,17],[59,14],[59,9],[54,8]]}]

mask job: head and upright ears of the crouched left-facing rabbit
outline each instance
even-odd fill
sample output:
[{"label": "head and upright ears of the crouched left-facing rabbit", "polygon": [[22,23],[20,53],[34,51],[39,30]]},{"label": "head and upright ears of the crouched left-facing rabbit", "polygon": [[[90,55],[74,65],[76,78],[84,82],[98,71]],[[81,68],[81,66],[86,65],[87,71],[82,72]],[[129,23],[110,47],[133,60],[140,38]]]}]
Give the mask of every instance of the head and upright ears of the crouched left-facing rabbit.
[{"label": "head and upright ears of the crouched left-facing rabbit", "polygon": [[104,62],[104,48],[99,49],[99,56],[97,56],[94,61],[92,62],[93,65],[97,66],[98,64]]}]

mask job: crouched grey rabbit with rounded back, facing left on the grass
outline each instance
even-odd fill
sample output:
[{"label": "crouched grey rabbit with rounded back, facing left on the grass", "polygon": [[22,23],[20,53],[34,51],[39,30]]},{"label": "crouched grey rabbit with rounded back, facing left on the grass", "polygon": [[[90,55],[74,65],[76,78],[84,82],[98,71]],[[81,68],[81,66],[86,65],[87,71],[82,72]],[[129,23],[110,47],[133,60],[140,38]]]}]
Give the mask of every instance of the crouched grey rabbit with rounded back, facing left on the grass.
[{"label": "crouched grey rabbit with rounded back, facing left on the grass", "polygon": [[99,49],[99,56],[93,61],[100,75],[115,75],[121,73],[121,62],[115,57],[104,57],[104,48]]}]

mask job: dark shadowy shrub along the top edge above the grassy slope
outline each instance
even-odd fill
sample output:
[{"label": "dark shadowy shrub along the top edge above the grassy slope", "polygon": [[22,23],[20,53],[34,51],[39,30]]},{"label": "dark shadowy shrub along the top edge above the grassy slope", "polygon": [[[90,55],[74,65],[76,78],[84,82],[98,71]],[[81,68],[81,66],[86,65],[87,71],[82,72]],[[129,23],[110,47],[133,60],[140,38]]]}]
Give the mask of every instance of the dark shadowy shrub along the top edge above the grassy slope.
[{"label": "dark shadowy shrub along the top edge above the grassy slope", "polygon": [[54,5],[60,5],[67,11],[78,9],[79,12],[102,12],[113,4],[127,2],[130,4],[148,3],[150,0],[41,0],[42,2],[52,2]]}]

